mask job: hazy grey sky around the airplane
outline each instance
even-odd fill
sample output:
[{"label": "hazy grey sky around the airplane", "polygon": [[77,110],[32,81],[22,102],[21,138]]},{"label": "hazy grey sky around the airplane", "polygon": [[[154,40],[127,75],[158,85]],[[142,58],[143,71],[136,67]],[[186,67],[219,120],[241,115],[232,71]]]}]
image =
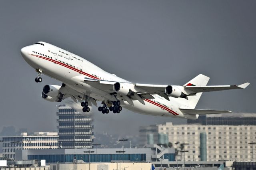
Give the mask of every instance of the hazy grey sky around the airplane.
[{"label": "hazy grey sky around the airplane", "polygon": [[[0,130],[56,130],[56,105],[20,49],[38,41],[67,49],[138,83],[183,85],[202,73],[209,85],[250,82],[245,90],[204,93],[196,108],[255,113],[256,1],[1,1]],[[139,125],[186,120],[94,108],[96,132],[137,134]]]}]

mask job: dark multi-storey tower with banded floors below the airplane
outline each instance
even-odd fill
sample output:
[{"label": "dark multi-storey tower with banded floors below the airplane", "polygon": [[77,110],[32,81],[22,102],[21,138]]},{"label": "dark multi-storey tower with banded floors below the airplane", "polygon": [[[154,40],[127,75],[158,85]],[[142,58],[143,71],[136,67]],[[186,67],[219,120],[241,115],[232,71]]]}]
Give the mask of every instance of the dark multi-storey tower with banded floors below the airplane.
[{"label": "dark multi-storey tower with banded floors below the airplane", "polygon": [[92,119],[66,105],[57,112],[59,145],[62,148],[92,148]]}]

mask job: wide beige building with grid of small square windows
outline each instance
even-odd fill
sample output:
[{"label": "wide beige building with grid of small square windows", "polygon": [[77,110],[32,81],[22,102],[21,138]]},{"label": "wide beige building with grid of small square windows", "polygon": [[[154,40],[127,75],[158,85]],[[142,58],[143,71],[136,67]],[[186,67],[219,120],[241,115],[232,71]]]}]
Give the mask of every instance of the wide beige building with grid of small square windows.
[{"label": "wide beige building with grid of small square windows", "polygon": [[[256,150],[256,144],[249,144],[256,141],[256,126],[253,125],[173,125],[165,123],[155,125],[155,127],[150,126],[149,132],[146,131],[148,128],[140,127],[140,141],[144,141],[142,144],[156,139],[159,142],[159,134],[165,134],[174,148],[188,151],[178,152],[176,158],[178,160],[185,158],[186,161],[200,161],[203,158],[206,159],[205,161],[253,161],[251,152],[252,149]],[[204,142],[206,144],[203,146]]]}]

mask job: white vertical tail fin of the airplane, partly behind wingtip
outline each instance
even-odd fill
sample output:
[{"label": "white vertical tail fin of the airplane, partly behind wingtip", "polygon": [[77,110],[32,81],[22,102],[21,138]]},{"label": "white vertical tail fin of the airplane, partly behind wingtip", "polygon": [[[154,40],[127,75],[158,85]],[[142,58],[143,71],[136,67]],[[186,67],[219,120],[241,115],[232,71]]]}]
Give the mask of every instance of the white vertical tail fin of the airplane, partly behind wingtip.
[{"label": "white vertical tail fin of the airplane, partly behind wingtip", "polygon": [[[204,85],[207,85],[209,79],[210,77],[200,74],[196,76],[194,79],[188,81],[188,83],[184,84],[184,86],[188,86],[188,85],[204,86]],[[196,95],[194,96],[188,96],[188,106],[194,109],[201,95],[202,93],[196,93]]]}]

